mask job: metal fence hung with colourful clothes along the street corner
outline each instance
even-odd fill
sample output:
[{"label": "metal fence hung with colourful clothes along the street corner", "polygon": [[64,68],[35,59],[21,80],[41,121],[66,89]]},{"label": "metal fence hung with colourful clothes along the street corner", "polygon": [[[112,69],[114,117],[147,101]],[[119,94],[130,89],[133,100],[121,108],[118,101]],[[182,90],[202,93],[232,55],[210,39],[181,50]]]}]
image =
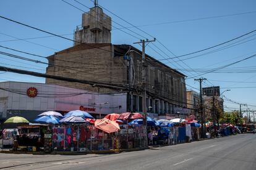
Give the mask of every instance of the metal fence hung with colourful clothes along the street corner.
[{"label": "metal fence hung with colourful clothes along the street corner", "polygon": [[147,135],[143,126],[121,125],[121,131],[108,134],[94,126],[53,126],[53,152],[87,152],[144,147]]}]

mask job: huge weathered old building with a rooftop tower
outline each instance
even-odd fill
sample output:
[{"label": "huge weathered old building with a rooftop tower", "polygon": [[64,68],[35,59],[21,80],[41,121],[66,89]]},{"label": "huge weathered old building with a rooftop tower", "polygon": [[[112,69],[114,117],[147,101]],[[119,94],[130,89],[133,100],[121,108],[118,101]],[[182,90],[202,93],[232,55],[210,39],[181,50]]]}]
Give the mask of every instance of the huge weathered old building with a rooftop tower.
[{"label": "huge weathered old building with a rooftop tower", "polygon": [[[96,15],[95,11],[99,11],[100,16],[105,16],[100,7],[93,7],[88,14]],[[92,15],[83,14],[82,30],[75,31],[75,41],[82,43],[75,43],[74,47],[49,56],[46,73],[132,87],[135,89],[134,91],[126,91],[127,111],[141,112],[142,51],[127,44],[111,44],[109,36],[105,36],[107,33],[110,35],[111,27],[107,28],[110,18],[104,21],[102,18],[95,18]],[[96,30],[102,31],[94,31],[97,22],[98,25],[102,25],[102,29],[101,26],[96,26]],[[103,33],[104,30],[107,33]],[[103,33],[103,36],[98,36],[99,32]],[[88,34],[90,36],[87,36]],[[146,55],[145,60],[147,64],[145,86],[147,87],[148,113],[154,114],[153,116],[169,116],[171,114],[182,115],[182,118],[186,117],[187,113],[184,111],[184,108],[187,107],[185,75],[150,55]],[[46,83],[100,93],[119,92],[118,89],[99,88],[55,79],[46,79]]]}]

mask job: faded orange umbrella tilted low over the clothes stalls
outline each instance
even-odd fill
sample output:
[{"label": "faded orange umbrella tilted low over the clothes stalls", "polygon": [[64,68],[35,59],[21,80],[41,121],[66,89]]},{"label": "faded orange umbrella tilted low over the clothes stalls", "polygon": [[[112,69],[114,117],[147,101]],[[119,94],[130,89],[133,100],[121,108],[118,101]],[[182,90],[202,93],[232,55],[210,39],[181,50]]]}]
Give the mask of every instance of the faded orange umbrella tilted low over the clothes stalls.
[{"label": "faded orange umbrella tilted low over the clothes stalls", "polygon": [[95,127],[107,133],[117,132],[120,129],[119,124],[107,118],[96,119]]}]

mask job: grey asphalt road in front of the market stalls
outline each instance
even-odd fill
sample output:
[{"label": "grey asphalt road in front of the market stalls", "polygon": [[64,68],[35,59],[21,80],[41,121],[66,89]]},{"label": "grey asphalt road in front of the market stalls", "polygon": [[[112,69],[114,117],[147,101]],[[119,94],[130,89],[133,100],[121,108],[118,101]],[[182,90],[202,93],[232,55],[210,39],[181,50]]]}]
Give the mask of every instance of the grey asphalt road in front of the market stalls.
[{"label": "grey asphalt road in front of the market stalls", "polygon": [[0,154],[1,169],[256,169],[256,135],[111,155]]}]

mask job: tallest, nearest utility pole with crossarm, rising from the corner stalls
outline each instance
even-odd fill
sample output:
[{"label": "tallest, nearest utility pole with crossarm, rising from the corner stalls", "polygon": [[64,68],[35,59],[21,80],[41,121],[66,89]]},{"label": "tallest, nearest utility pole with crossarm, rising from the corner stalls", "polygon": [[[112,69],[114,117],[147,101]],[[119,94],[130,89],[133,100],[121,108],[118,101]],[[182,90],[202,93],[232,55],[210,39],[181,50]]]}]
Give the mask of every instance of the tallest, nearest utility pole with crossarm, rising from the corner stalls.
[{"label": "tallest, nearest utility pole with crossarm, rising from the corner stalls", "polygon": [[143,95],[142,95],[142,112],[143,112],[143,125],[145,126],[145,131],[146,131],[146,137],[145,137],[145,143],[144,146],[148,147],[148,127],[147,127],[147,92],[146,92],[146,67],[147,65],[145,64],[145,42],[153,42],[156,41],[154,38],[153,40],[146,40],[142,39],[140,42],[134,42],[134,44],[142,44],[142,88],[143,88]]}]

